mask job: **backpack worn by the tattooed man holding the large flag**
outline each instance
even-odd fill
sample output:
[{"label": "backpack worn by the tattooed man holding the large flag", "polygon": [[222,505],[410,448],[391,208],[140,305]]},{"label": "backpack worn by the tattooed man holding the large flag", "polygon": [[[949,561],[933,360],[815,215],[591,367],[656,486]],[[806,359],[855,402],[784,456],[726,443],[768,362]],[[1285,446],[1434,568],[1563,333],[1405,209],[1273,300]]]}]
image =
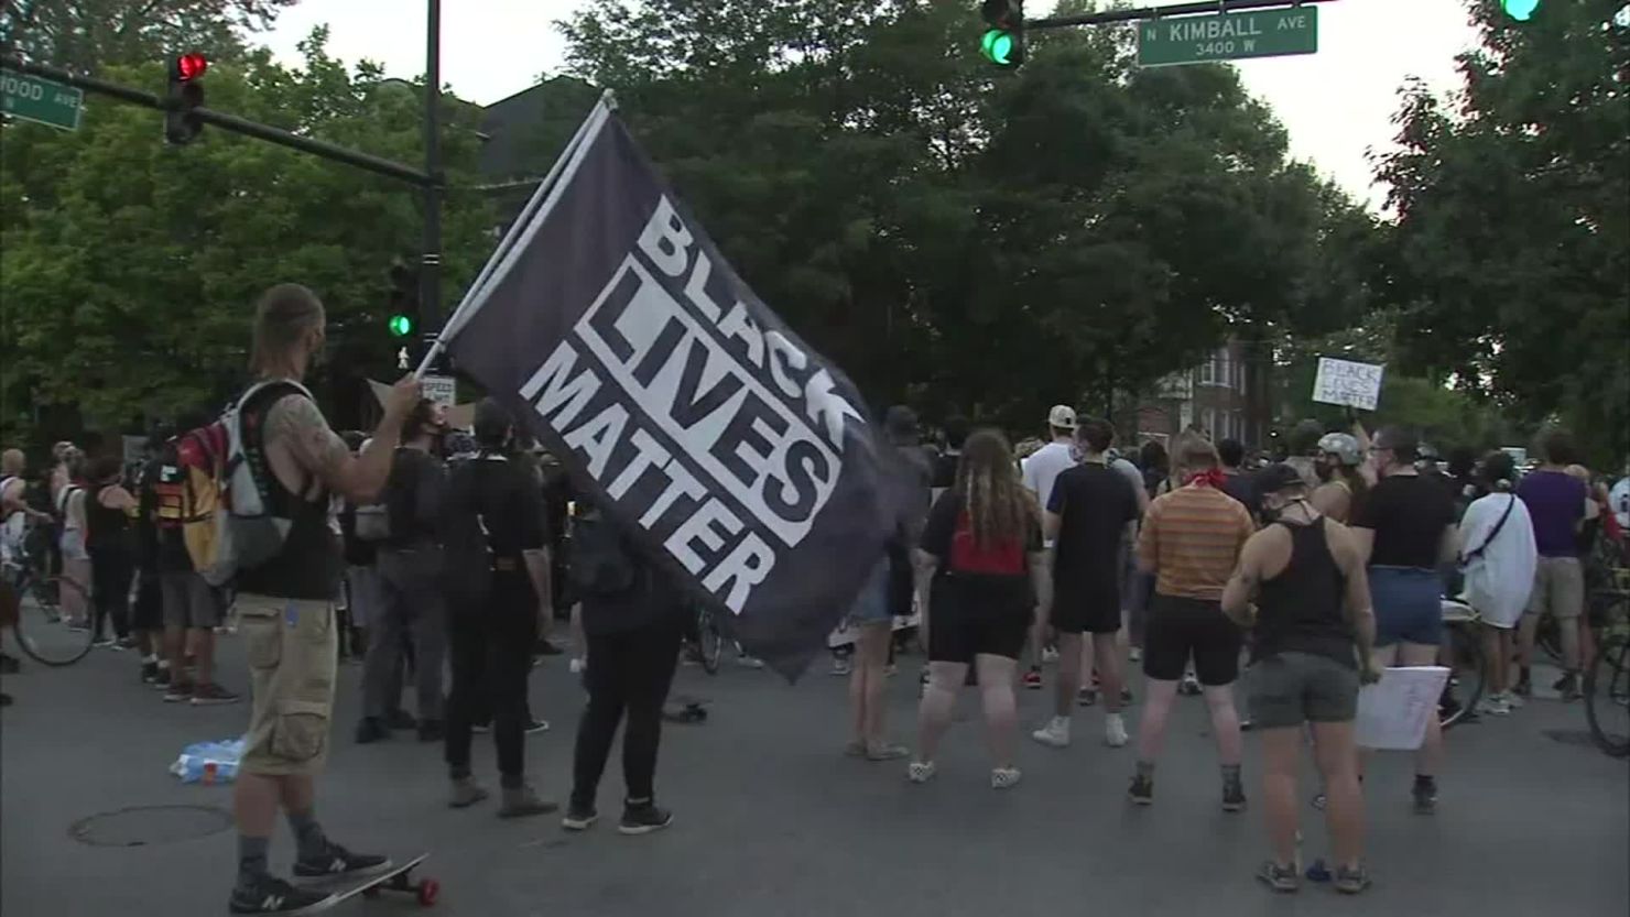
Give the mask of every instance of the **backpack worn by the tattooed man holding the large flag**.
[{"label": "backpack worn by the tattooed man holding the large flag", "polygon": [[292,380],[254,383],[218,420],[176,438],[176,467],[184,477],[181,534],[192,568],[212,586],[275,557],[293,524],[279,511],[285,500],[261,440],[264,407],[285,394],[311,397]]}]

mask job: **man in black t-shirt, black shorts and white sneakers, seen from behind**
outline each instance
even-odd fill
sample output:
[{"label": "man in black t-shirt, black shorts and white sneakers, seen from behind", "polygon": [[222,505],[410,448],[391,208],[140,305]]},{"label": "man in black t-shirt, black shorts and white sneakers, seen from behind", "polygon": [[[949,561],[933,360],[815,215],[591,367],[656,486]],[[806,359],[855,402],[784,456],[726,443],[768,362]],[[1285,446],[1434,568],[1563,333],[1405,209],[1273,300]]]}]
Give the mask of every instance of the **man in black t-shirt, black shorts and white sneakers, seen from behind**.
[{"label": "man in black t-shirt, black shorts and white sneakers, seen from behind", "polygon": [[1053,482],[1043,516],[1043,542],[1053,542],[1053,603],[1048,622],[1058,632],[1058,686],[1053,718],[1032,738],[1053,748],[1069,746],[1069,715],[1082,679],[1082,635],[1092,635],[1092,653],[1104,691],[1107,717],[1104,741],[1126,744],[1121,720],[1120,647],[1121,544],[1138,520],[1138,490],[1125,474],[1105,463],[1115,430],[1104,420],[1076,428],[1081,464]]}]

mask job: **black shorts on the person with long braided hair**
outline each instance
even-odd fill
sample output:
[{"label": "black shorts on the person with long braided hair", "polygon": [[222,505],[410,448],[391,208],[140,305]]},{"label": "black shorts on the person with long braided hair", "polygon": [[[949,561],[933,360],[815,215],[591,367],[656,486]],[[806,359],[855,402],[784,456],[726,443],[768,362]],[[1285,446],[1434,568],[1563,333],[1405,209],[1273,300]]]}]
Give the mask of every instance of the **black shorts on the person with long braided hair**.
[{"label": "black shorts on the person with long braided hair", "polygon": [[[939,577],[929,601],[927,658],[971,663],[973,656],[1017,660],[1030,635],[1029,583]],[[1001,580],[1011,580],[1002,577]]]}]

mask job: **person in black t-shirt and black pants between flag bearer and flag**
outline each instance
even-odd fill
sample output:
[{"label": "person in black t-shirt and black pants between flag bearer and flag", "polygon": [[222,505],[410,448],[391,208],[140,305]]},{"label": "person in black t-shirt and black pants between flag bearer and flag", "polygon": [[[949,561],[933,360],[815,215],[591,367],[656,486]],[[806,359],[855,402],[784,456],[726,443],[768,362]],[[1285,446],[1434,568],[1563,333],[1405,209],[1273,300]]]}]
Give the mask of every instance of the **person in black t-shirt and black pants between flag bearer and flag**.
[{"label": "person in black t-shirt and black pants between flag bearer and flag", "polygon": [[549,551],[543,490],[510,461],[510,415],[492,399],[476,406],[481,451],[448,480],[442,513],[448,596],[447,699],[450,805],[487,798],[471,777],[476,720],[492,718],[504,803],[499,818],[546,814],[559,806],[526,783],[526,674],[538,621],[551,611]]}]

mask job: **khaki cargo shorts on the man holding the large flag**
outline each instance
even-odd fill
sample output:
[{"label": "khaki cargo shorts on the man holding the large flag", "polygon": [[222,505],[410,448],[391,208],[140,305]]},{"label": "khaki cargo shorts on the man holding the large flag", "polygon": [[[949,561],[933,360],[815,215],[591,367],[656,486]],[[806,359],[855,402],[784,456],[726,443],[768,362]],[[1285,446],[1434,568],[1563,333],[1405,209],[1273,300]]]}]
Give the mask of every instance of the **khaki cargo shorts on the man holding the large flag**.
[{"label": "khaki cargo shorts on the man holding the large flag", "polygon": [[240,593],[238,616],[254,695],[241,769],[267,777],[319,772],[339,665],[333,603]]}]

